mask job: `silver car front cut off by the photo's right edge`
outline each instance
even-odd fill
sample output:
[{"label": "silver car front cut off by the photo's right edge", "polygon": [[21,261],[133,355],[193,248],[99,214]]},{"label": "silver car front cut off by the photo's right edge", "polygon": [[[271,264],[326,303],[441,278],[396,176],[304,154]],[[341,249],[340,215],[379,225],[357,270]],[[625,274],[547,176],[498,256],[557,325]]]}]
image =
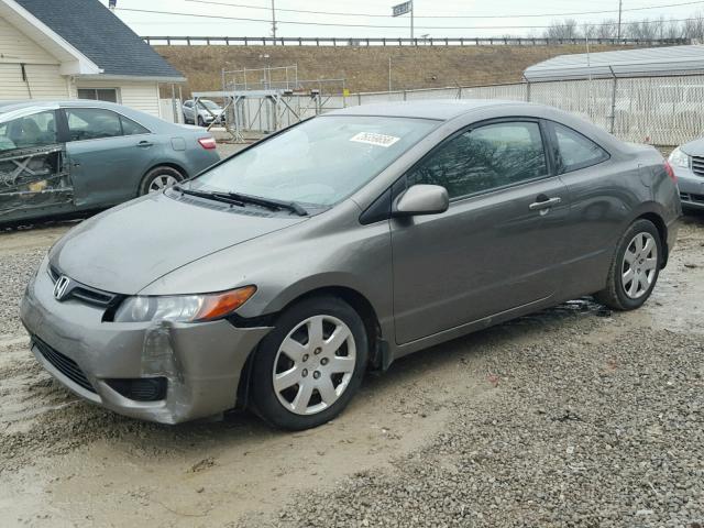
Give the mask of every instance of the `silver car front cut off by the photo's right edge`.
[{"label": "silver car front cut off by the photo's right edge", "polygon": [[676,147],[669,157],[685,209],[704,210],[704,138]]}]

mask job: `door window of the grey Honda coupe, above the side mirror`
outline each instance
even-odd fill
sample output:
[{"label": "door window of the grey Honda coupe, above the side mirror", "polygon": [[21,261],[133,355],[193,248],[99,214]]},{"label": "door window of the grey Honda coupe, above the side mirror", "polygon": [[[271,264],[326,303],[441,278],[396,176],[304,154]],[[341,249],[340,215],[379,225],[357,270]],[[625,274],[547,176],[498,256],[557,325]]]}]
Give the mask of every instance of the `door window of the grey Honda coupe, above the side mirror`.
[{"label": "door window of the grey Honda coupe, above the side mirror", "polygon": [[440,185],[452,199],[547,175],[540,127],[516,121],[486,124],[451,139],[411,169],[408,185]]}]

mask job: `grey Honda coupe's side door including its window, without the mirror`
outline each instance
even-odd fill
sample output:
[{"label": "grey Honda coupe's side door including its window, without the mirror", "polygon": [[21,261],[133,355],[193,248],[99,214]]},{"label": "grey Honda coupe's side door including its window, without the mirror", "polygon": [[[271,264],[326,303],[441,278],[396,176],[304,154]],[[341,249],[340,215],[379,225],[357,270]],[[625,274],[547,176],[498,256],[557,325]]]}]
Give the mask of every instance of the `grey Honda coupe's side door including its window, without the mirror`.
[{"label": "grey Honda coupe's side door including its window, without the mirror", "polygon": [[521,119],[461,131],[406,175],[446,187],[450,207],[391,221],[397,343],[556,293],[569,204],[541,129]]}]

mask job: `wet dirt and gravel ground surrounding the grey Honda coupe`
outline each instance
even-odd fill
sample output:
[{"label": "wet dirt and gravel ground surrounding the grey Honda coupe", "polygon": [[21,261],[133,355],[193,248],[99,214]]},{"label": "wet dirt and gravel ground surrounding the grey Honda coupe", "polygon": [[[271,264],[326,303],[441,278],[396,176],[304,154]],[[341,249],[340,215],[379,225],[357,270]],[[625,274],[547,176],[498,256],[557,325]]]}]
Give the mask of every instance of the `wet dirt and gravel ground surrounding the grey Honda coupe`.
[{"label": "wet dirt and gravel ground surrounding the grey Honda coupe", "polygon": [[53,382],[18,301],[67,229],[0,234],[2,526],[704,524],[704,216],[640,310],[579,299],[436,346],[295,435],[143,424]]}]

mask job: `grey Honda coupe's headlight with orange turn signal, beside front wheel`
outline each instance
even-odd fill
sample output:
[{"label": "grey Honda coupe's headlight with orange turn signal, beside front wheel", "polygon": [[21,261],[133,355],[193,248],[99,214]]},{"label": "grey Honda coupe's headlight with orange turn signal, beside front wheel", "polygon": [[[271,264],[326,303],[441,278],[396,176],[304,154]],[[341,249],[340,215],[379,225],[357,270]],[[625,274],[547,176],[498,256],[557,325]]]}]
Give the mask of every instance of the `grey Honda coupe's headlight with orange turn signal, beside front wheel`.
[{"label": "grey Honda coupe's headlight with orange turn signal, beside front wheel", "polygon": [[135,296],[122,301],[114,322],[212,321],[241,307],[254,295],[256,286],[205,295]]}]

